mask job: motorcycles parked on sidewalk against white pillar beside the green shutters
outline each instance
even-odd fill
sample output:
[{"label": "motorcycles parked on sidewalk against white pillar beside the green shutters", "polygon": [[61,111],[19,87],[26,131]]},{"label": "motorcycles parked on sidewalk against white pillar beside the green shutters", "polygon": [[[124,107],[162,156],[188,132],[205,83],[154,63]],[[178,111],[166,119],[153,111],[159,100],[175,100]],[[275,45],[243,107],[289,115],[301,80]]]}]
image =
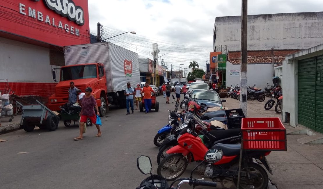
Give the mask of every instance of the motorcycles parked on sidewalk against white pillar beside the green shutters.
[{"label": "motorcycles parked on sidewalk against white pillar beside the green shutters", "polygon": [[265,104],[265,110],[270,110],[274,104],[275,105],[275,112],[277,114],[281,114],[282,113],[282,103],[283,103],[283,89],[280,85],[276,85],[276,86],[269,86],[267,83],[267,90],[265,88],[265,90],[267,91],[268,94],[271,95],[271,98],[266,102]]}]

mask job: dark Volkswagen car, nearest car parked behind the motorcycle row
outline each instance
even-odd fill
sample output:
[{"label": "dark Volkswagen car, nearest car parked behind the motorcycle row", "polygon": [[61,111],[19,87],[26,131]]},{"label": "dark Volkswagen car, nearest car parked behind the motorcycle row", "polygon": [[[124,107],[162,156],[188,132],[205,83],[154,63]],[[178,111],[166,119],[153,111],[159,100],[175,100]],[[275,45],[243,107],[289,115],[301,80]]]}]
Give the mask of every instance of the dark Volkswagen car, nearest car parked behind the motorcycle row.
[{"label": "dark Volkswagen car, nearest car parked behind the motorcycle row", "polygon": [[226,102],[226,100],[221,100],[219,94],[213,90],[193,89],[190,95],[192,100],[204,103],[208,108],[223,106],[222,102]]}]

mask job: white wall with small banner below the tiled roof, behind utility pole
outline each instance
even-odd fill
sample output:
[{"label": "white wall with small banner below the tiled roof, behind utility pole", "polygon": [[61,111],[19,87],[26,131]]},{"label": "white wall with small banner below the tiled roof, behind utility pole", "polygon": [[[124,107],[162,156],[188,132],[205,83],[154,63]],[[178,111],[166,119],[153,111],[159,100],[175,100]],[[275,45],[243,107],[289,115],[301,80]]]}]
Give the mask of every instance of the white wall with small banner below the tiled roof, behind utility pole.
[{"label": "white wall with small banner below the tiled roof, behind utility pole", "polygon": [[[230,87],[234,84],[240,84],[240,75],[230,75],[230,70],[240,70],[240,65],[233,65],[230,62],[226,62],[226,86]],[[253,86],[264,89],[267,83],[272,83],[273,78],[273,66],[272,64],[248,64],[248,86]]]}]

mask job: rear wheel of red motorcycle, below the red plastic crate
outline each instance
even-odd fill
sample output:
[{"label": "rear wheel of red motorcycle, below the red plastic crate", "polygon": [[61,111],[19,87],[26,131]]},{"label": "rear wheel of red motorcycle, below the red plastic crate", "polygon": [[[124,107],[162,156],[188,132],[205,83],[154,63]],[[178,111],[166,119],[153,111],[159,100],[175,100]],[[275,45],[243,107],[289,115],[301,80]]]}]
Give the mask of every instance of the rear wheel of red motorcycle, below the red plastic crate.
[{"label": "rear wheel of red motorcycle, below the red plastic crate", "polygon": [[[266,189],[268,187],[268,174],[266,170],[262,166],[256,163],[248,163],[248,169],[251,175],[257,175],[257,177],[249,180],[247,176],[241,175],[239,188]],[[247,167],[242,165],[241,171],[247,171]],[[235,186],[237,186],[238,184],[237,178],[234,179],[234,184]]]}]

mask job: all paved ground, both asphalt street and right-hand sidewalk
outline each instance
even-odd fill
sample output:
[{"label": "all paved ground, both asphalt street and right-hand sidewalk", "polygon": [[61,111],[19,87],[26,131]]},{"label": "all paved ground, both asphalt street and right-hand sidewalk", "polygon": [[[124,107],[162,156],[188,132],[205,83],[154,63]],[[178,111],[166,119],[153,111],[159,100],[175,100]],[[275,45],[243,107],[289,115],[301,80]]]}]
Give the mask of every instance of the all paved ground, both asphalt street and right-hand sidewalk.
[{"label": "all paved ground, both asphalt street and right-hand sidewalk", "polygon": [[[226,107],[239,108],[237,100],[226,100]],[[17,130],[0,135],[7,140],[0,143],[0,188],[136,188],[148,176],[137,168],[139,155],[151,157],[152,173],[157,174],[158,148],[153,138],[167,124],[167,109],[174,108],[162,96],[157,101],[159,112],[148,114],[135,110],[126,115],[125,109],[110,109],[101,118],[101,137],[95,137],[94,126],[87,128],[82,141],[73,141],[78,125],[65,127],[62,121],[53,132]],[[278,116],[274,110],[264,110],[265,102],[248,101],[248,117]],[[268,155],[274,173],[269,178],[278,188],[323,188],[323,162],[319,158],[323,148],[296,144],[297,137],[288,135],[287,152]],[[26,153],[18,154],[21,152]],[[190,164],[182,177],[188,177],[194,165]],[[202,178],[197,173],[193,177]],[[217,188],[235,187],[229,182],[218,183]]]}]

